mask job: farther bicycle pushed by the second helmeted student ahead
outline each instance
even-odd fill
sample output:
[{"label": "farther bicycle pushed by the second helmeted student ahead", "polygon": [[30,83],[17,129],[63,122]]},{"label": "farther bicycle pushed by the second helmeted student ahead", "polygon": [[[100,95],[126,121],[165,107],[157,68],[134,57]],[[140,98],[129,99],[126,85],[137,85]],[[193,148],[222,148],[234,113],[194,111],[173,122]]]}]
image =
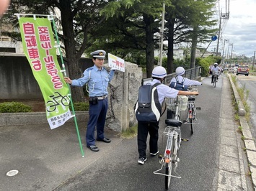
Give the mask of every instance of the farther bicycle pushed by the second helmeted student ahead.
[{"label": "farther bicycle pushed by the second helmeted student ahead", "polygon": [[[196,86],[190,86],[189,91],[198,91]],[[191,134],[194,133],[194,124],[198,123],[198,118],[196,118],[196,111],[200,110],[200,107],[195,107],[195,97],[192,95],[187,96],[187,118],[184,121],[184,124],[190,124]]]}]

